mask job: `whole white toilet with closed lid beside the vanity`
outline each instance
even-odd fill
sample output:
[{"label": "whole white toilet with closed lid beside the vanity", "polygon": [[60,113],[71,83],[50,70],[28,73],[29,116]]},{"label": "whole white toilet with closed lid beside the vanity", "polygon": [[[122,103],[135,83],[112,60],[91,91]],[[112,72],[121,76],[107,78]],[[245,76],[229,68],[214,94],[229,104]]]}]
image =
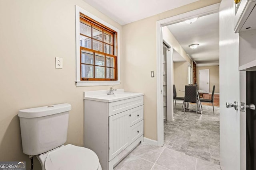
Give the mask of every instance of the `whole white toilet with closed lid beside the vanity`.
[{"label": "whole white toilet with closed lid beside the vanity", "polygon": [[24,154],[36,156],[42,170],[102,170],[92,150],[63,145],[67,140],[70,110],[67,103],[20,110]]}]

